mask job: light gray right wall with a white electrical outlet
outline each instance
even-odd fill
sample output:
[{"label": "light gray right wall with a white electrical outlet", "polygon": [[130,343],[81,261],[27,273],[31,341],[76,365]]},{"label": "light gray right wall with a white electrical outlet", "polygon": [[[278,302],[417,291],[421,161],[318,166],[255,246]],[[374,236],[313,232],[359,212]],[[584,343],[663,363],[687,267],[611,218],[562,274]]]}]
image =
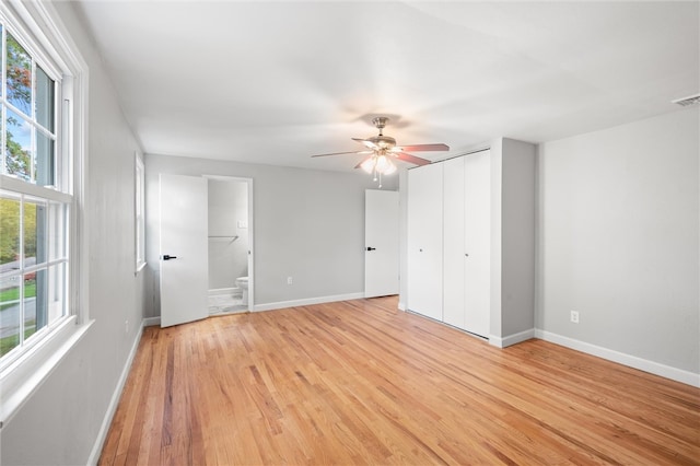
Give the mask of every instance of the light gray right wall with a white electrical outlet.
[{"label": "light gray right wall with a white electrical outlet", "polygon": [[700,373],[699,113],[540,145],[539,329]]}]

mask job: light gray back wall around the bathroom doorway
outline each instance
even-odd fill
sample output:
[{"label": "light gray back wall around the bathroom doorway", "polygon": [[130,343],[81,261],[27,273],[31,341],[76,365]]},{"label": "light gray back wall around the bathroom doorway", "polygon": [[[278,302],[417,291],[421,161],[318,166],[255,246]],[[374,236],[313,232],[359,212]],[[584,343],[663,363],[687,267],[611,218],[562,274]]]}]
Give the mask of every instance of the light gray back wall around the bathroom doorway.
[{"label": "light gray back wall around the bathroom doorway", "polygon": [[[160,315],[160,173],[253,178],[253,248],[256,308],[296,300],[363,293],[364,172],[339,173],[148,154],[147,258],[149,316]],[[384,179],[393,189],[398,177]],[[293,277],[293,284],[287,284]]]}]

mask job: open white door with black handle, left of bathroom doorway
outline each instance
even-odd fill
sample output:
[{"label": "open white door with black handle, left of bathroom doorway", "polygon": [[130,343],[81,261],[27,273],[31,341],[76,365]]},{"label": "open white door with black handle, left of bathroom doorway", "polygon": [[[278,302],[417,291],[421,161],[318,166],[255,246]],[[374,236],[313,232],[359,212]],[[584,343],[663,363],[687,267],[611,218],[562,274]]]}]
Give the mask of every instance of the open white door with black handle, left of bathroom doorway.
[{"label": "open white door with black handle, left of bathroom doorway", "polygon": [[161,327],[208,316],[207,179],[160,175]]}]

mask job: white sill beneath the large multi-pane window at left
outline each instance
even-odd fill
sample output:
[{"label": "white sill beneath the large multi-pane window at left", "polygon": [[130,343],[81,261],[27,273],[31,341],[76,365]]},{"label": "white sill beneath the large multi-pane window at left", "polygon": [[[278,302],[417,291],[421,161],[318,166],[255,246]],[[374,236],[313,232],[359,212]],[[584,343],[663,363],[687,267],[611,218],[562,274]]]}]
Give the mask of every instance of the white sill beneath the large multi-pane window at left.
[{"label": "white sill beneath the large multi-pane window at left", "polygon": [[40,345],[27,351],[7,368],[0,378],[0,429],[22,408],[42,386],[54,369],[86,334],[94,321],[75,324],[75,317],[67,318]]}]

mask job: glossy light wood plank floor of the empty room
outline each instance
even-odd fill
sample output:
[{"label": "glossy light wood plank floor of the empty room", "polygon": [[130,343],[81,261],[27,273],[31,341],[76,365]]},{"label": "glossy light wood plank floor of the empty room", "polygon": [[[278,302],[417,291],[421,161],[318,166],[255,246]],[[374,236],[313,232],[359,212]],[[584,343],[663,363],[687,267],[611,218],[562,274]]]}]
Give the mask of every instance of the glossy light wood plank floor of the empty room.
[{"label": "glossy light wood plank floor of the empty room", "polygon": [[700,464],[700,389],[396,304],[147,328],[100,464]]}]

